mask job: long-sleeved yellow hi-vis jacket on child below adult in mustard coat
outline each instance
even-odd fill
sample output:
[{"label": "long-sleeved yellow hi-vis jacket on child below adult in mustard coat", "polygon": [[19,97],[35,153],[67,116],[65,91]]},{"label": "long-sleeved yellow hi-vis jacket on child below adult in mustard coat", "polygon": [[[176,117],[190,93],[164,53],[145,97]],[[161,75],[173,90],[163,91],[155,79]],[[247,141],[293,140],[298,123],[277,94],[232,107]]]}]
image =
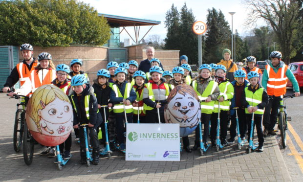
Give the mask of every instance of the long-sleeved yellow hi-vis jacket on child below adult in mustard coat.
[{"label": "long-sleeved yellow hi-vis jacket on child below adult in mustard coat", "polygon": [[220,110],[222,111],[229,111],[229,106],[230,106],[230,99],[233,98],[234,96],[234,87],[233,85],[225,80],[219,84],[219,89],[220,89],[220,95],[218,96],[215,105],[214,105],[214,113],[218,113],[218,107],[219,107],[219,98],[223,97],[224,101],[220,102]]}]

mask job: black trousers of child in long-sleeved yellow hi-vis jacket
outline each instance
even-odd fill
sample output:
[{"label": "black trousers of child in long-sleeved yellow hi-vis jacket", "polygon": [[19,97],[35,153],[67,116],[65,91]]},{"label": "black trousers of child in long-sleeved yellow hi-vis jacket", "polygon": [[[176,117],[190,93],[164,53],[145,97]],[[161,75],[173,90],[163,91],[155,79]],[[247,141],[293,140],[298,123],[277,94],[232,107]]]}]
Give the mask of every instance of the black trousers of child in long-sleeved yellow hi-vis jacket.
[{"label": "black trousers of child in long-sleeved yellow hi-vis jacket", "polygon": [[[226,139],[227,135],[227,122],[228,111],[220,111],[220,140]],[[211,139],[216,139],[216,127],[217,127],[218,114],[213,113],[211,116]]]}]

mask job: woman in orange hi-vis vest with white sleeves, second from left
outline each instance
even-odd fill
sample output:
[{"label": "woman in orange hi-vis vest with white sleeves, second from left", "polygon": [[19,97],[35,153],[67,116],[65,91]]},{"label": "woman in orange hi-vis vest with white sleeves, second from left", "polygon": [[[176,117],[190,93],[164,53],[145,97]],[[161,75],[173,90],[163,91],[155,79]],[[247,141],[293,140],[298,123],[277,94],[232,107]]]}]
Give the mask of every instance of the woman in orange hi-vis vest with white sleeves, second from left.
[{"label": "woman in orange hi-vis vest with white sleeves, second from left", "polygon": [[9,96],[14,94],[28,95],[36,91],[40,86],[51,84],[56,79],[55,66],[51,60],[51,55],[47,52],[42,52],[38,56],[39,65],[31,71],[30,75],[26,78],[22,87]]}]

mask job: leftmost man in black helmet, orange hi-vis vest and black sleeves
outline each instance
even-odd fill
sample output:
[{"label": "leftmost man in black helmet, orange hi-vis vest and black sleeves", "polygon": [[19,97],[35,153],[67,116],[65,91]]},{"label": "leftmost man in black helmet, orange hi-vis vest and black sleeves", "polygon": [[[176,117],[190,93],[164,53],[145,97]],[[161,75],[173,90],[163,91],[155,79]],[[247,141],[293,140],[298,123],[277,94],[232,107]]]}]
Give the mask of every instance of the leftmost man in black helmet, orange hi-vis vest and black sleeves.
[{"label": "leftmost man in black helmet, orange hi-vis vest and black sleeves", "polygon": [[25,79],[29,76],[30,72],[38,65],[38,61],[33,57],[33,46],[30,44],[22,44],[20,46],[22,57],[24,58],[21,63],[18,63],[7,77],[3,92],[10,91],[19,80],[21,86],[24,84]]}]

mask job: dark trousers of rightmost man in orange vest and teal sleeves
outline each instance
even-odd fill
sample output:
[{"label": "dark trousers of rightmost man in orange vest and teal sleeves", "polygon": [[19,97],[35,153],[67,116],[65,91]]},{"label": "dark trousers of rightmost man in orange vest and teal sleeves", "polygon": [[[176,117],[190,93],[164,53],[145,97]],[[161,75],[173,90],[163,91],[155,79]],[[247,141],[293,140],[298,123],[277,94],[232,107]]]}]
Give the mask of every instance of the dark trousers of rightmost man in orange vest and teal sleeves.
[{"label": "dark trousers of rightmost man in orange vest and teal sleeves", "polygon": [[269,102],[265,107],[263,116],[264,129],[273,131],[278,118],[278,109],[280,107],[281,97],[269,96]]}]

